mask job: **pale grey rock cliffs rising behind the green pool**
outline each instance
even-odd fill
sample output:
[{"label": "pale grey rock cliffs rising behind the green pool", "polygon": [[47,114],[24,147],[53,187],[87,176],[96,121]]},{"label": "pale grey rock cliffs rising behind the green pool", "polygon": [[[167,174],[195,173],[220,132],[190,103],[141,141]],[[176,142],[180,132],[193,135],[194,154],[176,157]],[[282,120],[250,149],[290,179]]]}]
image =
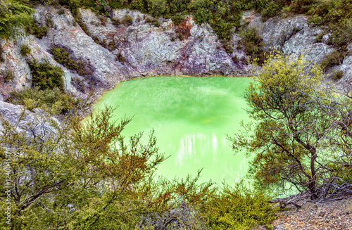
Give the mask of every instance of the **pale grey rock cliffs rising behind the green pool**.
[{"label": "pale grey rock cliffs rising behind the green pool", "polygon": [[[87,27],[84,32],[68,10],[59,14],[58,9],[38,6],[36,11],[34,18],[37,22],[42,25],[51,22],[46,36],[37,39],[32,35],[21,35],[15,41],[0,39],[5,59],[0,63],[0,75],[4,79],[7,72],[13,72],[15,76],[7,82],[2,81],[1,101],[9,91],[30,86],[32,76],[26,63],[28,58],[60,66],[65,70],[66,89],[84,94],[82,82],[84,88],[89,87],[89,81],[56,63],[49,53],[54,45],[65,47],[71,56],[89,63],[97,79],[98,94],[122,80],[147,75],[251,75],[251,65],[246,64],[248,56],[238,46],[241,43],[239,34],[232,34],[233,52],[227,53],[210,25],[197,25],[191,16],[187,16],[181,25],[158,18],[160,26],[156,27],[153,25],[156,21],[149,20],[150,15],[139,11],[114,10],[112,20],[99,20],[91,10],[80,9],[82,23]],[[329,34],[322,42],[315,41],[322,29],[311,27],[306,15],[275,17],[264,22],[260,14],[248,11],[243,18],[249,27],[258,29],[265,51],[278,49],[295,56],[305,53],[308,60],[320,63],[333,50],[332,46],[325,44]],[[118,21],[122,23],[116,23]],[[26,57],[20,54],[22,45],[32,50]],[[351,44],[348,49],[351,54]],[[351,77],[352,56],[347,56],[332,70],[343,70],[347,77]]]}]

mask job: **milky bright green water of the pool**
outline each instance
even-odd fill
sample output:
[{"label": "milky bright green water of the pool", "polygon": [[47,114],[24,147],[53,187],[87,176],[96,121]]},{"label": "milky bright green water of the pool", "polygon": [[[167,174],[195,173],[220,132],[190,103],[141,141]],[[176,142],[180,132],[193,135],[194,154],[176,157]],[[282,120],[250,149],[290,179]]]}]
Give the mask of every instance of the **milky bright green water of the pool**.
[{"label": "milky bright green water of the pool", "polygon": [[95,109],[119,106],[115,117],[133,117],[124,136],[155,130],[157,145],[170,158],[158,167],[167,179],[195,176],[234,184],[244,177],[248,159],[234,155],[227,134],[237,132],[239,122],[249,122],[244,111],[244,77],[147,77],[118,84],[106,92]]}]

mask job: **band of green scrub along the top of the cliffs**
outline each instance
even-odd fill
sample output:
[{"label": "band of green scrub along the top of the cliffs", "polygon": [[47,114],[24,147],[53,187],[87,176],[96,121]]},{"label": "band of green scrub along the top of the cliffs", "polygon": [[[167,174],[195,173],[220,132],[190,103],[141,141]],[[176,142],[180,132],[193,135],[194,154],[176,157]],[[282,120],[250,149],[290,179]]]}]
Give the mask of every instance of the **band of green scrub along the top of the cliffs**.
[{"label": "band of green scrub along the top of the cliffs", "polygon": [[[68,8],[77,23],[87,33],[87,28],[82,23],[78,11],[80,7],[92,8],[101,18],[101,23],[106,22],[107,17],[111,17],[112,9],[115,8],[131,8],[150,13],[153,17],[172,18],[176,25],[182,23],[185,15],[193,15],[196,23],[208,23],[213,27],[229,53],[233,50],[230,44],[232,32],[241,30],[241,27],[246,25],[241,23],[241,14],[244,11],[255,9],[264,20],[282,13],[305,13],[310,16],[310,23],[317,26],[325,25],[329,28],[325,33],[332,34],[327,43],[334,46],[335,52],[334,55],[328,55],[323,60],[322,64],[325,68],[341,63],[347,55],[346,45],[352,39],[352,0],[45,0],[29,2],[1,0],[0,36],[9,37],[19,27],[27,26],[27,32],[39,38],[43,37],[49,25],[37,25],[34,22],[31,16],[33,10],[30,7],[35,4]],[[122,23],[130,25],[132,18],[127,15]],[[158,20],[153,24],[158,26]],[[320,37],[322,35],[320,34]],[[244,38],[243,43],[249,56],[259,58],[262,63],[260,42],[249,43]]]}]

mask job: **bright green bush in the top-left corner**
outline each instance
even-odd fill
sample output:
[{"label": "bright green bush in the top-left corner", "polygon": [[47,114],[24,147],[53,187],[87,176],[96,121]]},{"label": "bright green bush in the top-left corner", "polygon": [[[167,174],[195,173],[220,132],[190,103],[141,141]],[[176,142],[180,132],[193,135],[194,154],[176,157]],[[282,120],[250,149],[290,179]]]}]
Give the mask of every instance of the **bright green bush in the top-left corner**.
[{"label": "bright green bush in the top-left corner", "polygon": [[11,37],[29,25],[33,12],[21,1],[0,0],[0,37]]}]

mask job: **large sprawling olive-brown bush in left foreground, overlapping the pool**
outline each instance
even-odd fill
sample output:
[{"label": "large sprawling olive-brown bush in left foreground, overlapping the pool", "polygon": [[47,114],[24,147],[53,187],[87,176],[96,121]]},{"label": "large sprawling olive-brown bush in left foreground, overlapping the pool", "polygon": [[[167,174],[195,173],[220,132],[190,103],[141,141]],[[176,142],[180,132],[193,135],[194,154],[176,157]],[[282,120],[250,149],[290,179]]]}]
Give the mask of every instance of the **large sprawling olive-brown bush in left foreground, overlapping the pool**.
[{"label": "large sprawling olive-brown bush in left foreground, overlapping the pool", "polygon": [[[194,218],[195,205],[211,196],[212,184],[198,185],[198,177],[171,184],[153,182],[153,172],[165,159],[155,137],[151,134],[142,143],[142,134],[137,134],[125,143],[121,132],[130,120],[115,123],[111,112],[106,108],[84,121],[76,115],[61,125],[43,113],[39,120],[22,126],[34,134],[30,136],[18,129],[19,123],[3,121],[1,164],[11,155],[8,174],[11,182],[20,181],[11,189],[14,229],[145,229],[158,220],[168,219],[172,225],[175,215],[167,213],[184,205],[189,218]],[[38,133],[45,124],[52,125],[51,132]],[[1,181],[5,177],[1,173]],[[1,186],[1,200],[5,191]],[[180,216],[179,221],[188,226],[203,224],[189,218]]]}]

